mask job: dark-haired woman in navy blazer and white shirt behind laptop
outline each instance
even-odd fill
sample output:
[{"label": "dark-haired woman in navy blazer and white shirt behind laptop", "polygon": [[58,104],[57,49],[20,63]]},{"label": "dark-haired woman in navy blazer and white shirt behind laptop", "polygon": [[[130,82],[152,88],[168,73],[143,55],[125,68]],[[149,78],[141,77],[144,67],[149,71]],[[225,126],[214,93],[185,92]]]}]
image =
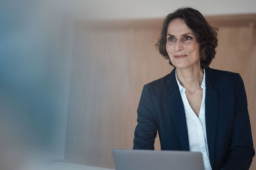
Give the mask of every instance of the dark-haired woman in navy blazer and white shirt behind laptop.
[{"label": "dark-haired woman in navy blazer and white shirt behind laptop", "polygon": [[209,68],[218,29],[192,8],[164,19],[156,46],[173,71],[143,87],[134,149],[202,152],[205,169],[249,169],[254,156],[246,92],[237,73]]}]

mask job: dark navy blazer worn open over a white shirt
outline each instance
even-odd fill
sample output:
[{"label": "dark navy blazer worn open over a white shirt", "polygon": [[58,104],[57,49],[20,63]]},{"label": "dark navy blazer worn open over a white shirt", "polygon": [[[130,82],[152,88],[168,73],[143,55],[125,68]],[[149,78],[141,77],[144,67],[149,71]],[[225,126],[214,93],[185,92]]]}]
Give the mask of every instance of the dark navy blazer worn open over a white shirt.
[{"label": "dark navy blazer worn open over a white shirt", "polygon": [[[205,124],[209,159],[214,169],[249,169],[253,150],[246,92],[237,73],[205,69]],[[184,106],[175,69],[143,87],[138,106],[134,149],[189,150]]]}]

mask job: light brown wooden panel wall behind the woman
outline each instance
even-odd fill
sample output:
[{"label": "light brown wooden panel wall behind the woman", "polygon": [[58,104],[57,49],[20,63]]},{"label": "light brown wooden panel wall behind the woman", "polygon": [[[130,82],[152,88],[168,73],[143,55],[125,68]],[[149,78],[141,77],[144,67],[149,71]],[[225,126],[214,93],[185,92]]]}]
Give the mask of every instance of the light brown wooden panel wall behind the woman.
[{"label": "light brown wooden panel wall behind the woman", "polygon": [[[218,52],[211,67],[234,71],[243,77],[255,141],[256,15],[237,16],[228,16],[228,20],[227,16],[208,17],[220,28]],[[114,167],[112,149],[132,148],[143,85],[173,69],[154,47],[162,22],[76,22],[67,162]],[[159,150],[158,138],[156,149]],[[251,169],[255,167],[253,164]]]}]

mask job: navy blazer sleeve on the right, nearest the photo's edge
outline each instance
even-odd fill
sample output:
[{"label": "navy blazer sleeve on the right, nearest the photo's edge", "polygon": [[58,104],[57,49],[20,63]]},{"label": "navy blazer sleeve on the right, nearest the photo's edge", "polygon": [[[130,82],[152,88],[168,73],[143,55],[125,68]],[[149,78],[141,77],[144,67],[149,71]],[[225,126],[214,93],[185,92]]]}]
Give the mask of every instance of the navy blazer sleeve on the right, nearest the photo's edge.
[{"label": "navy blazer sleeve on the right, nearest the photo's edge", "polygon": [[239,74],[236,76],[235,117],[227,163],[222,170],[249,169],[255,155],[248,115],[246,92]]}]

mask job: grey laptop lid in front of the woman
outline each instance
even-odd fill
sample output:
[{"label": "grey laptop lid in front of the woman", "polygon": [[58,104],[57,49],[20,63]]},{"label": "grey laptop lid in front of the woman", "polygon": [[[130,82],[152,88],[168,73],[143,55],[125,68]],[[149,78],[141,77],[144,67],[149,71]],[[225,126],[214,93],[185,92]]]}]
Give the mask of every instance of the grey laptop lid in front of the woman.
[{"label": "grey laptop lid in front of the woman", "polygon": [[204,170],[202,153],[113,150],[116,170]]}]

